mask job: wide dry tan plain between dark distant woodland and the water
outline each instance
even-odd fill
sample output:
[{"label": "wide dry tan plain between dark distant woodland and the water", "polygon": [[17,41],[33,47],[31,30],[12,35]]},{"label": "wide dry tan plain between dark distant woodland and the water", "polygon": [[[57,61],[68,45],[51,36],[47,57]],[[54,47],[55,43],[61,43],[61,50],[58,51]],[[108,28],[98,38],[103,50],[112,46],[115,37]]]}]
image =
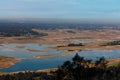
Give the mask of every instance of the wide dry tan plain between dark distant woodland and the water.
[{"label": "wide dry tan plain between dark distant woodland and the water", "polygon": [[42,37],[1,37],[0,43],[40,43],[40,44],[56,44],[67,43],[66,41],[59,41],[64,39],[97,39],[99,41],[107,41],[110,39],[120,39],[120,30],[74,30],[75,33],[68,32],[69,29],[59,30],[34,30],[37,32],[47,33],[48,36]]}]

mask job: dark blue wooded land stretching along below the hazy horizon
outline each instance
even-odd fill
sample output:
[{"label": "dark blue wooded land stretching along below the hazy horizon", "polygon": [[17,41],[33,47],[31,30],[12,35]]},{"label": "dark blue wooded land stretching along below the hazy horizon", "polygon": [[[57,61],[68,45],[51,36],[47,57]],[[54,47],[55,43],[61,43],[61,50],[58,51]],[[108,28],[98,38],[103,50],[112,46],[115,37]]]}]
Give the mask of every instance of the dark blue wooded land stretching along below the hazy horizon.
[{"label": "dark blue wooded land stretching along below the hazy horizon", "polygon": [[37,33],[32,29],[56,30],[56,29],[80,29],[80,30],[99,30],[99,29],[120,29],[118,24],[92,24],[92,23],[39,23],[39,22],[0,22],[0,36],[24,36],[47,34]]}]

